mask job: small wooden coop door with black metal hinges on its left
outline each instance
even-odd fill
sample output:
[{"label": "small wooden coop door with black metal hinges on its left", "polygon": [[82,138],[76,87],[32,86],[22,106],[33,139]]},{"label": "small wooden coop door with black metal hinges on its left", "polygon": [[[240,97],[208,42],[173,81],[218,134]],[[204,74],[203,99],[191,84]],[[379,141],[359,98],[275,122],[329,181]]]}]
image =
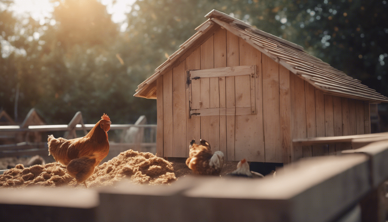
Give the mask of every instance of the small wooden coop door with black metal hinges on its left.
[{"label": "small wooden coop door with black metal hinges on its left", "polygon": [[234,66],[187,72],[190,115],[256,114],[256,66]]}]

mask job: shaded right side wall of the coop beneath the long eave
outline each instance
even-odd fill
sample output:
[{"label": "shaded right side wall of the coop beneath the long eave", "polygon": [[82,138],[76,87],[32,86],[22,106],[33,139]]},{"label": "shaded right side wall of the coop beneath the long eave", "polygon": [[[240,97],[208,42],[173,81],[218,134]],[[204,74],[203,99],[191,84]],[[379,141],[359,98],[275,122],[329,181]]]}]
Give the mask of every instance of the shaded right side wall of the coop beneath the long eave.
[{"label": "shaded right side wall of the coop beneath the long eave", "polygon": [[[292,138],[371,133],[369,102],[326,95],[293,73],[290,75]],[[352,149],[343,144],[294,146],[293,159]]]}]

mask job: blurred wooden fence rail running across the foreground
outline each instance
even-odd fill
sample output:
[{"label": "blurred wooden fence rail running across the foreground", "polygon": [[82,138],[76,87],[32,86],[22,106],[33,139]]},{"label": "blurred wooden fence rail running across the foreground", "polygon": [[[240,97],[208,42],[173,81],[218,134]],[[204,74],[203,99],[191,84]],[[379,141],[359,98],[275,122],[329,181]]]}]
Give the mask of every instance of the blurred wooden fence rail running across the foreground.
[{"label": "blurred wooden fence rail running across the foreground", "polygon": [[[263,179],[185,176],[166,185],[0,192],[0,209],[51,221],[383,222],[388,143],[301,159]],[[23,209],[21,211],[20,209]],[[44,212],[51,212],[45,215]],[[67,215],[56,217],[54,215]],[[2,215],[17,221],[15,215]]]}]

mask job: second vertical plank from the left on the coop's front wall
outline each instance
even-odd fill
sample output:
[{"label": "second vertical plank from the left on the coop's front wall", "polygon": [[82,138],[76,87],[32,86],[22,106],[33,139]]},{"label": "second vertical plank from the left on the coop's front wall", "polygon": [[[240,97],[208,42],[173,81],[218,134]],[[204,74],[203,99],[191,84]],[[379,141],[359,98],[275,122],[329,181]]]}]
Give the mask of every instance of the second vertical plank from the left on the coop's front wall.
[{"label": "second vertical plank from the left on the coop's front wall", "polygon": [[172,70],[163,75],[163,156],[173,156]]}]

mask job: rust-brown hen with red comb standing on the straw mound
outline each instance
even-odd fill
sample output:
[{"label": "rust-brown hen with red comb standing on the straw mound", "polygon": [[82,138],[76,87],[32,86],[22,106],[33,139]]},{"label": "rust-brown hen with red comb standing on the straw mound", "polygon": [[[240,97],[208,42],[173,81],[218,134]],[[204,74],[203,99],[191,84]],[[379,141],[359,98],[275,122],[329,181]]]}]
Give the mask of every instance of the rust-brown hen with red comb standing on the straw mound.
[{"label": "rust-brown hen with red comb standing on the straw mound", "polygon": [[93,174],[95,166],[108,155],[109,141],[106,132],[111,128],[110,120],[106,114],[102,115],[94,128],[81,138],[66,140],[49,136],[49,155],[66,166],[69,175],[77,181],[75,186],[83,183],[87,187],[85,180]]}]

